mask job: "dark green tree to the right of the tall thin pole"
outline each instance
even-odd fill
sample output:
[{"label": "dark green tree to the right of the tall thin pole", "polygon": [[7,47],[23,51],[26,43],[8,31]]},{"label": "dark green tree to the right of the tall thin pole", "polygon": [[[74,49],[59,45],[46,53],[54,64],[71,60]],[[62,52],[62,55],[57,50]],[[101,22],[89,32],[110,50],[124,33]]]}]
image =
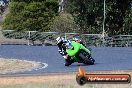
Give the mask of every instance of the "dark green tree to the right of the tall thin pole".
[{"label": "dark green tree to the right of the tall thin pole", "polygon": [[[130,0],[111,0],[106,2],[106,31],[109,35],[132,34],[130,32],[132,17]],[[132,21],[132,20],[131,20]],[[127,28],[127,26],[129,28]]]}]

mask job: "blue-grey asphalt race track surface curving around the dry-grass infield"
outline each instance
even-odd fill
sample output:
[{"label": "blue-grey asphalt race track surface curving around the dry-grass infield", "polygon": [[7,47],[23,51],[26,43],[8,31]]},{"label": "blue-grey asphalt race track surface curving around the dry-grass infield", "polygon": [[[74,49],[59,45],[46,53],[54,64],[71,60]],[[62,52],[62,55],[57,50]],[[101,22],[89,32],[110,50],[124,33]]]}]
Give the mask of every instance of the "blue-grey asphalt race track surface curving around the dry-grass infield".
[{"label": "blue-grey asphalt race track surface curving around the dry-grass infield", "polygon": [[58,53],[57,46],[0,45],[0,58],[48,64],[43,69],[15,73],[20,75],[76,72],[80,65],[87,71],[132,70],[132,48],[130,47],[92,47],[92,57],[96,60],[94,65],[73,63],[65,67],[64,58]]}]

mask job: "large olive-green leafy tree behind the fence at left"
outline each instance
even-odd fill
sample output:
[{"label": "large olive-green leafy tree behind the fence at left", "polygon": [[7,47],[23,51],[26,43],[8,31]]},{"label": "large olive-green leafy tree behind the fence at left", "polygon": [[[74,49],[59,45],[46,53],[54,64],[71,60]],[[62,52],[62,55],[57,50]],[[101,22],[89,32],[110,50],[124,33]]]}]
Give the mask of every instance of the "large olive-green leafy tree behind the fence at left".
[{"label": "large olive-green leafy tree behind the fence at left", "polygon": [[57,0],[12,0],[3,29],[50,31],[49,23],[58,15]]}]

